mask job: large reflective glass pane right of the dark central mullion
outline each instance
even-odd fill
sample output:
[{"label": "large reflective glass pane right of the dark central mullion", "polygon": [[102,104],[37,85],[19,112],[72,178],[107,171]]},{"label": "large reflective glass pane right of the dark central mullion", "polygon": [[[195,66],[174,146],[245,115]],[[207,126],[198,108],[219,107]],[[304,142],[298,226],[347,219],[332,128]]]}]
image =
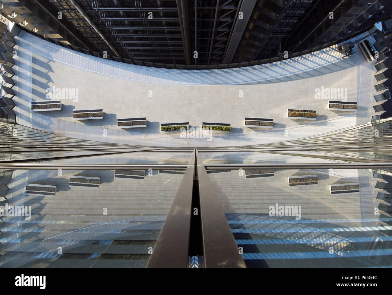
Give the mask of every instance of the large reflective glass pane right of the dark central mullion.
[{"label": "large reflective glass pane right of the dark central mullion", "polygon": [[240,169],[209,177],[248,267],[372,267],[392,265],[391,175]]}]

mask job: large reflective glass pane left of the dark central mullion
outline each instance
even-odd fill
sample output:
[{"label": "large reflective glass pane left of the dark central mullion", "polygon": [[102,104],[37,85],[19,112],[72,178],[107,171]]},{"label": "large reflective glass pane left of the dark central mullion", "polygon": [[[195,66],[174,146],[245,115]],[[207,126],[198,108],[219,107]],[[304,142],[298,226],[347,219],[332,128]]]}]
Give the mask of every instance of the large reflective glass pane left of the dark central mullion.
[{"label": "large reflective glass pane left of the dark central mullion", "polygon": [[[5,170],[0,266],[145,267],[182,177],[152,169]],[[11,206],[26,212],[13,216]]]}]

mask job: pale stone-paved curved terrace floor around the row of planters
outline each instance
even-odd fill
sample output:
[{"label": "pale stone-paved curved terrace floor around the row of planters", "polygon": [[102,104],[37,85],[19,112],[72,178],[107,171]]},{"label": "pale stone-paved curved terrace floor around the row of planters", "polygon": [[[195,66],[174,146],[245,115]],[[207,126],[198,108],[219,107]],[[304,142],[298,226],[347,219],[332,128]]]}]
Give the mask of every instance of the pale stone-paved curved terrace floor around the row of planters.
[{"label": "pale stone-paved curved terrace floor around the row of planters", "polygon": [[[357,38],[360,38],[358,36]],[[361,52],[348,58],[336,46],[267,65],[224,70],[171,70],[128,65],[89,56],[26,32],[17,42],[13,88],[17,123],[54,134],[113,143],[172,147],[225,147],[285,141],[361,125],[370,120],[374,100],[373,62]],[[31,112],[31,101],[47,89],[73,89],[62,110]],[[315,90],[347,89],[358,112],[330,111]],[[77,121],[74,109],[103,109],[104,118]],[[316,120],[288,119],[287,109],[317,111]],[[244,127],[244,117],[272,118],[272,130]],[[147,117],[146,128],[122,130],[118,118]],[[231,123],[232,132],[212,140],[161,133],[160,123]]]}]

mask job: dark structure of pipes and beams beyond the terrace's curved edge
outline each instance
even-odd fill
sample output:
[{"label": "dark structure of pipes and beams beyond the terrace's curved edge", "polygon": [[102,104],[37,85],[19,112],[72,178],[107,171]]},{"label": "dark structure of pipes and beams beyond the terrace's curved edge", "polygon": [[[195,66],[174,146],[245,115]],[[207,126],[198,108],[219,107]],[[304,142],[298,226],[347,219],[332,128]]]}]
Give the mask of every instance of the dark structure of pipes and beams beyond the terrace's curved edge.
[{"label": "dark structure of pipes and beams beyond the terrace's curved edge", "polygon": [[[53,42],[131,63],[203,67],[319,50],[366,31],[390,0],[0,0]],[[336,15],[328,19],[329,12]],[[61,18],[58,15],[61,14]],[[387,17],[387,14],[385,14]],[[339,28],[336,27],[339,24]]]}]

